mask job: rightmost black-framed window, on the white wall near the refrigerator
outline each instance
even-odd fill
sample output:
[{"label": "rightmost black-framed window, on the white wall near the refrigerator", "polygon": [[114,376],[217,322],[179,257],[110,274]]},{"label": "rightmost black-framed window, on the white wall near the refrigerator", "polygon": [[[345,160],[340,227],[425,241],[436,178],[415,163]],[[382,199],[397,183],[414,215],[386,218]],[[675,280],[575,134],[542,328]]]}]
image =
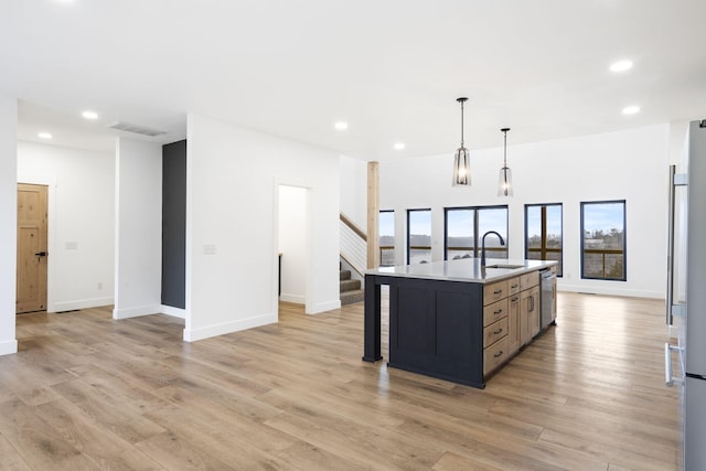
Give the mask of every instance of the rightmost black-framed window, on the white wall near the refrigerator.
[{"label": "rightmost black-framed window, on the white wall near the refrigerator", "polygon": [[625,281],[625,201],[581,203],[581,278]]}]

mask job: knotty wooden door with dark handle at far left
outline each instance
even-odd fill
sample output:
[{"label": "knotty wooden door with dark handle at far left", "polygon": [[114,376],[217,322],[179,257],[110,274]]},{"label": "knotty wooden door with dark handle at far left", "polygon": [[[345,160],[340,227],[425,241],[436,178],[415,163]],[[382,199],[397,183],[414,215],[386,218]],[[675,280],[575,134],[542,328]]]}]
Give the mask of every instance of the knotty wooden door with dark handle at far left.
[{"label": "knotty wooden door with dark handle at far left", "polygon": [[46,309],[46,186],[18,184],[15,312]]}]

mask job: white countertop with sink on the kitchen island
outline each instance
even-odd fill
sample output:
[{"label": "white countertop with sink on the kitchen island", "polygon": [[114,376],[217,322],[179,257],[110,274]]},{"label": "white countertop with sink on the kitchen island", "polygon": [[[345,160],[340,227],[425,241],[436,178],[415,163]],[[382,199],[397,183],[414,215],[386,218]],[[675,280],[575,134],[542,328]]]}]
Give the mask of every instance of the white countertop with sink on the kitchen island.
[{"label": "white countertop with sink on the kitchen island", "polygon": [[[518,268],[492,268],[492,265],[516,265]],[[430,280],[466,281],[485,283],[511,278],[527,271],[558,265],[555,260],[523,260],[518,258],[488,258],[481,268],[480,258],[432,261],[430,264],[379,267],[365,271],[365,275],[382,275],[400,278],[421,278]]]}]

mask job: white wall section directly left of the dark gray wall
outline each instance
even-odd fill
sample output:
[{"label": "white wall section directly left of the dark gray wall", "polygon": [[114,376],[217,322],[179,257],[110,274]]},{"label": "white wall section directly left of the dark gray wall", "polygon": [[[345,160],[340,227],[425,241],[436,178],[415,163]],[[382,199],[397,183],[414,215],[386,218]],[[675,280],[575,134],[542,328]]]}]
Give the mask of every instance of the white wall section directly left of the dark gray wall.
[{"label": "white wall section directly left of the dark gray wall", "polygon": [[161,312],[162,147],[118,139],[115,319]]}]

